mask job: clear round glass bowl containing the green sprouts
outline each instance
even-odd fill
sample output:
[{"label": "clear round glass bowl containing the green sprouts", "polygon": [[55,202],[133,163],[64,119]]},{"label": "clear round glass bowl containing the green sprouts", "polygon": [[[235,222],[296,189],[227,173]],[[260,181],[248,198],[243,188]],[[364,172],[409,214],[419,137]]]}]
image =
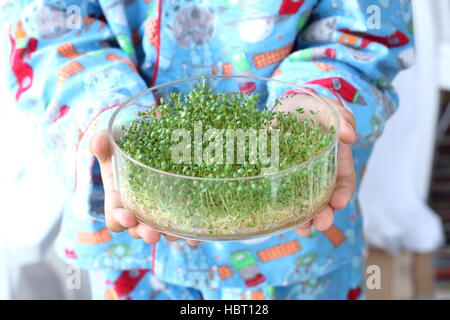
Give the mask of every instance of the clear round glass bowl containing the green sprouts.
[{"label": "clear round glass bowl containing the green sprouts", "polygon": [[[125,208],[162,233],[197,240],[244,240],[284,232],[304,224],[324,208],[335,186],[338,138],[320,154],[297,166],[254,177],[202,178],[151,168],[118,144],[126,126],[173,92],[188,93],[199,81],[215,92],[260,93],[259,107],[301,105],[301,116],[315,118],[324,130],[339,132],[335,110],[316,94],[283,81],[250,76],[181,79],[149,88],[122,103],[109,121],[114,145],[116,189]],[[250,85],[249,85],[250,84]],[[267,92],[270,92],[268,94]],[[245,94],[250,94],[248,91]],[[145,106],[143,97],[156,101]],[[158,121],[158,120],[155,120]]]}]

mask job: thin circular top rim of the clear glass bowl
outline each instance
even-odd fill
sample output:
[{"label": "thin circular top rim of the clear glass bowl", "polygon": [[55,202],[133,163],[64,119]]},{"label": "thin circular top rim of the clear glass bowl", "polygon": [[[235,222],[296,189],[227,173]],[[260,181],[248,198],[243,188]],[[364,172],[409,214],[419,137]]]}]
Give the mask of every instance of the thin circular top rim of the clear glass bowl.
[{"label": "thin circular top rim of the clear glass bowl", "polygon": [[[194,80],[207,80],[207,79],[217,79],[217,78],[222,78],[224,80],[228,80],[230,78],[250,78],[250,79],[258,79],[258,80],[263,80],[266,82],[269,81],[273,81],[273,82],[278,82],[280,84],[284,84],[286,86],[290,86],[292,88],[295,88],[296,90],[300,90],[303,91],[304,93],[312,96],[313,98],[319,100],[320,102],[322,102],[323,104],[325,104],[325,106],[330,109],[331,114],[333,115],[333,117],[335,118],[336,121],[336,133],[333,137],[333,141],[324,149],[322,150],[320,153],[318,153],[317,155],[315,155],[314,157],[312,157],[311,159],[302,162],[296,166],[287,168],[287,169],[283,169],[280,171],[275,171],[275,172],[271,172],[271,173],[267,173],[267,174],[262,174],[262,175],[258,175],[258,176],[250,176],[250,177],[238,177],[238,178],[208,178],[208,177],[193,177],[193,176],[185,176],[185,175],[181,175],[181,174],[177,174],[177,173],[173,173],[173,172],[168,172],[168,171],[164,171],[164,170],[159,170],[150,166],[147,166],[141,162],[139,162],[136,159],[133,159],[132,157],[130,157],[129,155],[127,155],[120,147],[119,145],[116,143],[114,136],[113,136],[113,125],[114,125],[114,120],[116,119],[117,115],[119,114],[120,111],[122,111],[123,109],[128,107],[128,104],[130,104],[131,102],[133,102],[134,100],[136,100],[137,98],[139,98],[140,96],[151,92],[151,91],[155,91],[157,89],[166,87],[166,86],[170,86],[176,83],[180,83],[180,82],[187,82],[187,81],[194,81]],[[169,81],[169,82],[164,82],[161,84],[158,84],[156,86],[150,87],[148,89],[145,89],[135,95],[133,95],[131,98],[125,100],[124,102],[120,103],[118,105],[118,107],[116,108],[116,110],[114,111],[114,113],[112,114],[111,118],[108,121],[108,137],[110,142],[112,143],[112,145],[114,146],[114,153],[113,153],[113,157],[115,156],[115,151],[118,151],[123,157],[125,157],[127,160],[133,162],[134,164],[153,171],[155,173],[158,174],[162,174],[162,175],[167,175],[167,176],[172,176],[175,178],[179,178],[179,179],[187,179],[187,180],[201,180],[201,181],[240,181],[240,180],[256,180],[256,179],[260,179],[260,178],[265,178],[265,177],[275,177],[275,176],[281,176],[284,175],[290,171],[302,168],[302,167],[306,167],[309,164],[311,164],[312,162],[314,162],[315,160],[321,158],[326,152],[328,152],[332,147],[336,146],[336,151],[339,148],[339,132],[340,132],[340,128],[341,128],[341,120],[340,117],[337,113],[337,111],[331,106],[330,103],[328,103],[325,99],[323,99],[322,97],[320,97],[319,95],[315,94],[314,92],[300,87],[298,85],[286,82],[286,81],[282,81],[282,80],[278,80],[278,79],[272,79],[272,78],[266,78],[266,77],[259,77],[259,76],[245,76],[245,75],[205,75],[205,76],[199,76],[199,77],[191,77],[191,78],[183,78],[183,79],[178,79],[178,80],[174,80],[174,81]]]}]

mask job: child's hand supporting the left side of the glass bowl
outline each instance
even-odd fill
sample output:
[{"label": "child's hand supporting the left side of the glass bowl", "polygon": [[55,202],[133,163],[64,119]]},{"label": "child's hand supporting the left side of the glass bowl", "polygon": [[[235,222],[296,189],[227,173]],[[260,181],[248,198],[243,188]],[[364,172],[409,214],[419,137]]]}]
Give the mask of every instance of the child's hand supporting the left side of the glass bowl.
[{"label": "child's hand supporting the left side of the glass bowl", "polygon": [[[105,190],[105,220],[106,226],[113,232],[122,232],[128,229],[133,238],[142,238],[145,242],[154,244],[159,241],[161,233],[155,229],[140,223],[136,217],[120,202],[119,194],[114,185],[112,170],[113,146],[106,131],[97,133],[90,141],[89,149],[100,163],[103,188]],[[164,235],[169,241],[178,238]],[[188,240],[190,245],[198,244],[198,241]]]}]

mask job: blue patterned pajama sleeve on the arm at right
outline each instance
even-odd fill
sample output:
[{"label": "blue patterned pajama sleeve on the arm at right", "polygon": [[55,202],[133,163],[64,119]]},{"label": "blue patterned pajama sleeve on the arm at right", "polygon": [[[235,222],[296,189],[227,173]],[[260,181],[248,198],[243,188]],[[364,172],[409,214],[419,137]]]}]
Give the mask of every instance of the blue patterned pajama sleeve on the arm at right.
[{"label": "blue patterned pajama sleeve on the arm at right", "polygon": [[414,60],[411,15],[408,0],[319,1],[274,77],[340,100],[357,121],[353,147],[368,145],[397,108],[393,78]]}]

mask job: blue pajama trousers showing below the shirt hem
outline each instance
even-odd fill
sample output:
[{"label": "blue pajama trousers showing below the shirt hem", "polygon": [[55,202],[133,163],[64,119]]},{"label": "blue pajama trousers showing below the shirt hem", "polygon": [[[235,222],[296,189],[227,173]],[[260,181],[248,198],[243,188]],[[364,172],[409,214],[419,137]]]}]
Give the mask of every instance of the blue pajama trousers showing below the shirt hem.
[{"label": "blue pajama trousers showing below the shirt hem", "polygon": [[157,279],[148,269],[91,271],[90,277],[92,298],[96,300],[356,300],[364,295],[360,257],[322,277],[286,286],[263,284],[247,289],[183,287]]}]

